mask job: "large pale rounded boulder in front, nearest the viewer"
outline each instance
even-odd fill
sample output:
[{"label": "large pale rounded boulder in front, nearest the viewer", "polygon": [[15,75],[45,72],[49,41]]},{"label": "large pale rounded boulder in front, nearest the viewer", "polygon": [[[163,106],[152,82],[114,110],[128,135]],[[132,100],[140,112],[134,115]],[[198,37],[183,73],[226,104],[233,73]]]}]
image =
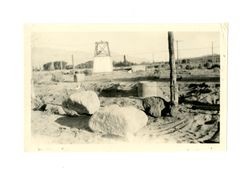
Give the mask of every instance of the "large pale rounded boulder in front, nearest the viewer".
[{"label": "large pale rounded boulder in front, nearest the viewer", "polygon": [[95,132],[127,137],[146,126],[147,122],[147,115],[133,106],[110,105],[90,118],[89,127]]}]

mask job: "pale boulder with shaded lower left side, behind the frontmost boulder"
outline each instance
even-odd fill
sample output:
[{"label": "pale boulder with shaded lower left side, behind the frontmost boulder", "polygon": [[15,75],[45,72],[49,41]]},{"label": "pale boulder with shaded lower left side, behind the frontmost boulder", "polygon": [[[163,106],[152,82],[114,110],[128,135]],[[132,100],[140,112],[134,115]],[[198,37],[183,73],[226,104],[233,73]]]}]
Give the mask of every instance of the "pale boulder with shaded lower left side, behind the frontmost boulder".
[{"label": "pale boulder with shaded lower left side, behind the frontmost boulder", "polygon": [[62,106],[66,114],[71,116],[91,115],[99,109],[100,101],[94,91],[82,91],[70,95],[63,101]]}]

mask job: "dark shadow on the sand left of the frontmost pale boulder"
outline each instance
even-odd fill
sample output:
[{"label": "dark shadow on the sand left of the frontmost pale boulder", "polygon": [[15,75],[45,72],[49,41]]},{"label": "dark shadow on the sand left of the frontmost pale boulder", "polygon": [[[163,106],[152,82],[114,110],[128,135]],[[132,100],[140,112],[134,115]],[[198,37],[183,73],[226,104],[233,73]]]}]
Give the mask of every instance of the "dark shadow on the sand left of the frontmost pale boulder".
[{"label": "dark shadow on the sand left of the frontmost pale boulder", "polygon": [[84,129],[91,132],[91,129],[89,128],[89,119],[90,116],[84,115],[80,117],[68,117],[64,116],[61,118],[56,119],[55,122],[57,122],[60,125],[67,126],[70,128],[77,128],[77,129]]}]

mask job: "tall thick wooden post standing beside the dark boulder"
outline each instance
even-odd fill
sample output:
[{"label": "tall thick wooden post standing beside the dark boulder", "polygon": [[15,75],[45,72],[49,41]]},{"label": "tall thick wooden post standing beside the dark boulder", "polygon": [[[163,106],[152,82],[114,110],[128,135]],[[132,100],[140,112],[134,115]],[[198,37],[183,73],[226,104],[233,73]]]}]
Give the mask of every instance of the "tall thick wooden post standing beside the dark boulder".
[{"label": "tall thick wooden post standing beside the dark boulder", "polygon": [[168,32],[168,51],[169,51],[169,66],[170,66],[170,102],[174,106],[178,106],[178,85],[175,67],[174,55],[174,34]]}]

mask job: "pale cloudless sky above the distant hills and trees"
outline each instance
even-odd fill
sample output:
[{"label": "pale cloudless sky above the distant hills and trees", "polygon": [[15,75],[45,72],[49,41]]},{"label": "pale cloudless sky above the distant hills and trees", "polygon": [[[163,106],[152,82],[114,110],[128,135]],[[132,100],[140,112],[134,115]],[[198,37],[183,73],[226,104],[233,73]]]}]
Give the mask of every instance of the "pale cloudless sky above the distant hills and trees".
[{"label": "pale cloudless sky above the distant hills and trees", "polygon": [[[95,42],[101,40],[109,42],[114,61],[121,61],[124,54],[127,60],[136,63],[166,61],[168,60],[167,36],[167,32],[32,33],[32,63],[44,64],[56,60],[70,62],[72,54],[76,64],[83,63],[93,59]],[[174,32],[175,41],[179,41],[179,59],[211,54],[212,42],[213,52],[219,53],[219,37],[218,32]]]}]

